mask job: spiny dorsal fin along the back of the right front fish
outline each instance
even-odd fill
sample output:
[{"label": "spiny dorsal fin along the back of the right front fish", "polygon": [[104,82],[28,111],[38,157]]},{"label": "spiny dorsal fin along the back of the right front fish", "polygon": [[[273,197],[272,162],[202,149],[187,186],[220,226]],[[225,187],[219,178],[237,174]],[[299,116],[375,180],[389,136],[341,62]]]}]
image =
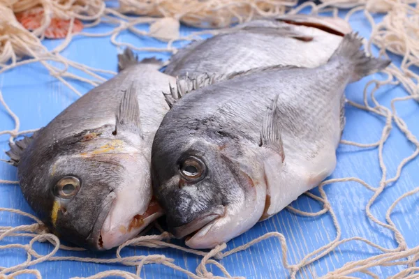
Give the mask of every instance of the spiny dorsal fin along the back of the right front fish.
[{"label": "spiny dorsal fin along the back of the right front fish", "polygon": [[266,67],[259,67],[253,68],[251,70],[243,70],[240,72],[234,72],[229,74],[200,74],[200,75],[193,75],[190,77],[186,74],[184,77],[177,77],[176,79],[176,87],[172,87],[169,84],[170,93],[163,93],[163,96],[166,98],[166,102],[168,103],[169,107],[171,108],[177,100],[182,98],[185,94],[190,93],[191,91],[198,90],[205,86],[214,84],[216,82],[221,82],[223,80],[232,80],[235,77],[242,77],[244,75],[251,75],[253,73],[260,73],[265,70],[286,70],[286,69],[293,69],[293,68],[302,68],[297,66],[283,66],[283,65],[275,65],[275,66],[266,66]]}]

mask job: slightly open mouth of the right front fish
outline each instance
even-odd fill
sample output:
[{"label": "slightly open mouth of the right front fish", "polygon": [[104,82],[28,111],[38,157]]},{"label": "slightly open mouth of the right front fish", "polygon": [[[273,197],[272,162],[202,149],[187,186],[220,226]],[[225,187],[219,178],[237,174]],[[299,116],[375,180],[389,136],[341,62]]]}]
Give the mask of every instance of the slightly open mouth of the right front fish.
[{"label": "slightly open mouth of the right front fish", "polygon": [[184,236],[187,236],[187,239],[193,237],[194,234],[200,232],[201,229],[204,229],[210,223],[213,223],[215,220],[224,216],[225,207],[220,205],[216,206],[211,211],[203,213],[198,218],[193,219],[191,222],[186,223],[179,227],[172,227],[172,234],[177,239],[182,239]]}]

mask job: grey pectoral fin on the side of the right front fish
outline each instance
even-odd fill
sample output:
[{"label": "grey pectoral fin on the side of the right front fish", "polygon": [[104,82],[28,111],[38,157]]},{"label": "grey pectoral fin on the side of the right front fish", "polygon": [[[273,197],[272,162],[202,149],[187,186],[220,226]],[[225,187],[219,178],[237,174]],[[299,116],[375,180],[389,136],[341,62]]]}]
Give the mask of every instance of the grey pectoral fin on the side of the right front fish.
[{"label": "grey pectoral fin on the side of the right front fish", "polygon": [[280,114],[278,109],[278,95],[272,100],[267,114],[263,118],[262,131],[260,132],[260,146],[266,146],[279,153],[284,162],[284,146],[281,139]]}]

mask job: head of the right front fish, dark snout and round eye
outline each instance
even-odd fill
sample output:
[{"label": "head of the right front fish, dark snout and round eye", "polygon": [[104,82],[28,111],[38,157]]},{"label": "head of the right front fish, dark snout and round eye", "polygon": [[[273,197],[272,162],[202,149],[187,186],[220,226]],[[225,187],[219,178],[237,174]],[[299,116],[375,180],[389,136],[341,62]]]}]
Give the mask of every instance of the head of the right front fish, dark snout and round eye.
[{"label": "head of the right front fish, dark snout and round eye", "polygon": [[253,153],[206,137],[179,141],[164,145],[158,133],[152,149],[154,193],[172,234],[187,236],[191,248],[213,248],[257,223],[266,188]]}]

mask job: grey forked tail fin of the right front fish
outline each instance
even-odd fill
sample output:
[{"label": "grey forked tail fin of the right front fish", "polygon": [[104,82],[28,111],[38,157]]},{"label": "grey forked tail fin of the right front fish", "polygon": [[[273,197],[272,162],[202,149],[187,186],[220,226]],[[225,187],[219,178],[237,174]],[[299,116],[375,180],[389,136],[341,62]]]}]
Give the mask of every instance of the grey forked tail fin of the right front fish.
[{"label": "grey forked tail fin of the right front fish", "polygon": [[391,63],[388,59],[367,56],[363,50],[360,50],[361,46],[362,38],[358,36],[358,33],[348,33],[329,59],[329,61],[344,59],[344,61],[353,65],[351,82],[356,82],[362,77],[383,70]]}]

